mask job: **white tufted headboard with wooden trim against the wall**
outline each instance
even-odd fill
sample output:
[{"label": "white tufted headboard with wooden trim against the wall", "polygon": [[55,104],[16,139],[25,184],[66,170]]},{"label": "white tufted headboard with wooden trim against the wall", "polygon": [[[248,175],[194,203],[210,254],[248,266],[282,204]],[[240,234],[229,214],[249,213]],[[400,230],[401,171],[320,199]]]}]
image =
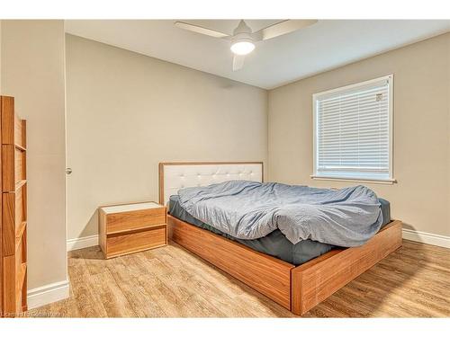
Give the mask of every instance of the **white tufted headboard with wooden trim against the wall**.
[{"label": "white tufted headboard with wooden trim against the wall", "polygon": [[185,187],[246,180],[263,182],[262,162],[159,163],[159,203]]}]

